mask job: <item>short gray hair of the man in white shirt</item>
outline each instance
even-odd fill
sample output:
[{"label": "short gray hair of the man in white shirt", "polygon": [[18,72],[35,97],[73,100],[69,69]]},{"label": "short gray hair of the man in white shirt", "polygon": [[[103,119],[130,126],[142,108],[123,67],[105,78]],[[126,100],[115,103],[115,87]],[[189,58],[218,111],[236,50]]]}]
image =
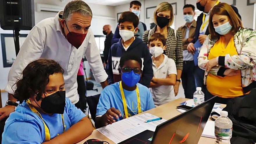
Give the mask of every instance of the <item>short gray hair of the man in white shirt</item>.
[{"label": "short gray hair of the man in white shirt", "polygon": [[93,17],[92,10],[84,1],[74,0],[67,3],[64,8],[62,19],[69,20],[73,13],[80,13],[81,15],[89,15]]}]

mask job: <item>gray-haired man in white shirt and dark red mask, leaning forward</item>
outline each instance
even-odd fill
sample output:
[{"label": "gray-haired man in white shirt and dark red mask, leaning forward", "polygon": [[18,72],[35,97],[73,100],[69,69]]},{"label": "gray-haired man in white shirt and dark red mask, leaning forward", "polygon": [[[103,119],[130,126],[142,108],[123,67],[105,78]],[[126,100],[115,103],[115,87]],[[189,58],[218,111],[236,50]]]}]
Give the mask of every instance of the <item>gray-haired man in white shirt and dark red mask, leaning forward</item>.
[{"label": "gray-haired man in white shirt and dark red mask, leaning forward", "polygon": [[36,59],[54,59],[63,67],[66,97],[77,107],[77,72],[84,54],[95,80],[101,83],[102,88],[108,85],[108,76],[93,32],[89,29],[91,20],[90,7],[85,2],[76,0],[69,2],[56,17],[44,19],[31,29],[8,74],[5,88],[8,92],[8,103],[0,109],[0,121],[14,111],[17,101],[12,95],[15,83],[20,79],[23,69]]}]

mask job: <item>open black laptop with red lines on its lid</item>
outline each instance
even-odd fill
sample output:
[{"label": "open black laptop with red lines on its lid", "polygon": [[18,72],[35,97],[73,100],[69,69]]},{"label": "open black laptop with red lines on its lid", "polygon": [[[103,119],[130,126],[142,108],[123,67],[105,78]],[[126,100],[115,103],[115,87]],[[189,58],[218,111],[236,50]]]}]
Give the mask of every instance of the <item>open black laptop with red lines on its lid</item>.
[{"label": "open black laptop with red lines on its lid", "polygon": [[217,96],[162,124],[155,132],[146,130],[118,144],[197,144]]}]

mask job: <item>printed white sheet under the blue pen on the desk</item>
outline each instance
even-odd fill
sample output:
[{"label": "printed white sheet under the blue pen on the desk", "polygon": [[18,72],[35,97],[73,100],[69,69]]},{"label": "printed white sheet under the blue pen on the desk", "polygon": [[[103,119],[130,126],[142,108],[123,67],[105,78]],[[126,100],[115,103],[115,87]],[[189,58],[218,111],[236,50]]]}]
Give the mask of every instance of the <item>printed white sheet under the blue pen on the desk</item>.
[{"label": "printed white sheet under the blue pen on the desk", "polygon": [[166,120],[157,120],[154,122],[144,123],[145,120],[151,120],[158,118],[155,115],[144,113],[142,115],[130,117],[118,122],[114,122],[112,125],[107,125],[97,129],[104,136],[109,138],[114,143],[120,143],[136,134],[139,134],[145,130],[155,131],[157,125],[165,122]]}]

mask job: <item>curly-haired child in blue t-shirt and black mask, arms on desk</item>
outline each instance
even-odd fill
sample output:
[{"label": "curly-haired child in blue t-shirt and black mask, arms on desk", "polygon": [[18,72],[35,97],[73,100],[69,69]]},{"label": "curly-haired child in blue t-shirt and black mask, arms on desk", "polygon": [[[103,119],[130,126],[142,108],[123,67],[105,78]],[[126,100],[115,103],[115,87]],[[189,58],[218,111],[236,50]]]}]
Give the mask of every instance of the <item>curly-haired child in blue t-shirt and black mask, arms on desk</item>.
[{"label": "curly-haired child in blue t-shirt and black mask, arms on desk", "polygon": [[21,104],[5,122],[2,143],[77,143],[93,132],[90,120],[65,97],[63,72],[54,60],[25,67],[14,91]]}]

